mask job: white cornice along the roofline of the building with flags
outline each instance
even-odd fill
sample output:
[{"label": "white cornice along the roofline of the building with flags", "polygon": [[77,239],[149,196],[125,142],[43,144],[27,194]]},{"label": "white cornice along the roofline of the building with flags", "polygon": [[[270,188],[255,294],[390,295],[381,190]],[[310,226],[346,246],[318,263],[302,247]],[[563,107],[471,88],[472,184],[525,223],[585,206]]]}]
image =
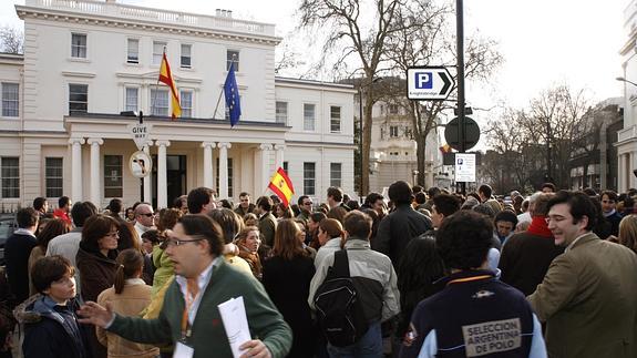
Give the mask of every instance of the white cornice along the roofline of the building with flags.
[{"label": "white cornice along the roofline of the building with flags", "polygon": [[27,0],[27,7],[68,11],[76,14],[93,14],[111,18],[195,27],[206,30],[236,31],[257,35],[275,35],[275,25],[263,22],[237,20],[230,17],[215,17],[181,11],[142,8],[130,4],[91,0]]}]

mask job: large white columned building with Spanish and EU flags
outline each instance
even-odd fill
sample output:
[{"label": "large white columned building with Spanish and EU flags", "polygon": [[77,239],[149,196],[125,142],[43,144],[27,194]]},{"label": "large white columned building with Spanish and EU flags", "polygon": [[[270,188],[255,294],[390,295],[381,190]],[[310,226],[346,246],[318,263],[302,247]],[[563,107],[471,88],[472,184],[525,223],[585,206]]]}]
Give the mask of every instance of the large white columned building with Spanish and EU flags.
[{"label": "large white columned building with Spanish and EU flags", "polygon": [[[104,207],[113,197],[166,207],[197,186],[220,198],[266,193],[282,166],[295,197],[353,193],[351,85],[275,75],[275,25],[115,1],[25,0],[24,54],[0,54],[0,204],[66,195]],[[157,82],[166,51],[182,105],[171,121]],[[235,67],[242,116],[230,127],[220,98]],[[129,168],[129,125],[151,125],[152,174]],[[269,193],[271,194],[271,193]],[[143,196],[142,196],[143,195]]]}]

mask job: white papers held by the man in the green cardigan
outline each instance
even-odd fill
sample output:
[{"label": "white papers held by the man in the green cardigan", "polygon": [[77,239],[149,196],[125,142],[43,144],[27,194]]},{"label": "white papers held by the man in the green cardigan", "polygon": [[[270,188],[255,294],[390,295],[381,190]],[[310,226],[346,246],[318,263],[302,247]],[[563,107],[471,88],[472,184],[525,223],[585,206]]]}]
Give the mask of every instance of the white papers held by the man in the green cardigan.
[{"label": "white papers held by the man in the green cardigan", "polygon": [[239,358],[242,356],[239,346],[251,339],[244,297],[230,298],[217,307],[228,335],[233,356]]}]

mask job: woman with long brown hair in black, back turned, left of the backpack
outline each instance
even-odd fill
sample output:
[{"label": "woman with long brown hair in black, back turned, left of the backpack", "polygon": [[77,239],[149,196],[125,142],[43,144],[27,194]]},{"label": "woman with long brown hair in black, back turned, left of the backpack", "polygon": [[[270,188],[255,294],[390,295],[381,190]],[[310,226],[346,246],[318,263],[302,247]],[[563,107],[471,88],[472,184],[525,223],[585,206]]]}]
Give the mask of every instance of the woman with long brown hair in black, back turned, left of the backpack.
[{"label": "woman with long brown hair in black, back turned, left of the backpack", "polygon": [[318,337],[308,305],[315,266],[300,235],[301,231],[292,219],[280,221],[273,257],[264,262],[264,287],[292,329],[292,348],[288,357],[312,357]]}]

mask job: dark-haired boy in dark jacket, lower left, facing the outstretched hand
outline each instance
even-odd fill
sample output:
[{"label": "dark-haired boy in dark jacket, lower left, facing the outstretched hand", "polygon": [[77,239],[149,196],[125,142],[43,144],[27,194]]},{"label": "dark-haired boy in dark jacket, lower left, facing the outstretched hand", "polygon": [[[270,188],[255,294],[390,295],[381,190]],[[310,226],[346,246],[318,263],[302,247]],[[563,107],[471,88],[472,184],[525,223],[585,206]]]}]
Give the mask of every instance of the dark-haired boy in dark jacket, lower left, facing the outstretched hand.
[{"label": "dark-haired boy in dark jacket, lower left, facing the outstretched hand", "polygon": [[62,256],[43,257],[33,265],[31,279],[39,295],[14,310],[24,326],[24,358],[89,357],[84,328],[75,315],[74,270]]}]

